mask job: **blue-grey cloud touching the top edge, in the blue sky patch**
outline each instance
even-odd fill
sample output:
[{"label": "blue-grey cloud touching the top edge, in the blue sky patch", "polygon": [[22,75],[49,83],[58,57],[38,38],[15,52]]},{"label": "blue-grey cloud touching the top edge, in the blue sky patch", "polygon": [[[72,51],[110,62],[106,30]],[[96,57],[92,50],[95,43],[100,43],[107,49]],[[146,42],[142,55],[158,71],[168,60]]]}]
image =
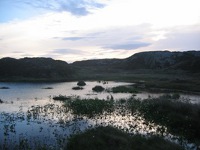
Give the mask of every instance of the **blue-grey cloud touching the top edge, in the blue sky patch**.
[{"label": "blue-grey cloud touching the top edge, in the blue sky patch", "polygon": [[22,0],[32,7],[57,12],[70,12],[75,16],[86,16],[94,8],[103,8],[105,5],[94,0]]}]

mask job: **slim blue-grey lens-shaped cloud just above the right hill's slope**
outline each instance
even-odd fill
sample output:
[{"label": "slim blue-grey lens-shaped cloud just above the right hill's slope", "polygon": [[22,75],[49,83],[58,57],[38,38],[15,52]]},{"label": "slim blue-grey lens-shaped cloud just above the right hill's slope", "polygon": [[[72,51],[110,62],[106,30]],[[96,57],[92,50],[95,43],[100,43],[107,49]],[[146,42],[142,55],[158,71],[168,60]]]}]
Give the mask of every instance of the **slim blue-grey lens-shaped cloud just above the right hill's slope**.
[{"label": "slim blue-grey lens-shaped cloud just above the right hill's slope", "polygon": [[137,48],[140,48],[140,47],[146,47],[146,46],[149,46],[151,45],[150,43],[131,43],[131,44],[119,44],[119,45],[110,45],[110,46],[106,46],[106,47],[103,47],[105,49],[115,49],[115,50],[118,50],[118,49],[121,49],[121,50],[134,50],[134,49],[137,49]]}]

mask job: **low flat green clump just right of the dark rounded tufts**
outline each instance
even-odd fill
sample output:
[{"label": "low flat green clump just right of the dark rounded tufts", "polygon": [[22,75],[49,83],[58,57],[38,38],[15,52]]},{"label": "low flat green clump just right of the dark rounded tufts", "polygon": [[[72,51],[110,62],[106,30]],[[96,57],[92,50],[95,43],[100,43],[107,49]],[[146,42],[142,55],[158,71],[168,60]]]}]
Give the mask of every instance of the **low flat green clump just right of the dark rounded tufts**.
[{"label": "low flat green clump just right of the dark rounded tufts", "polygon": [[131,86],[117,86],[111,89],[113,93],[138,93],[138,90],[135,87]]}]

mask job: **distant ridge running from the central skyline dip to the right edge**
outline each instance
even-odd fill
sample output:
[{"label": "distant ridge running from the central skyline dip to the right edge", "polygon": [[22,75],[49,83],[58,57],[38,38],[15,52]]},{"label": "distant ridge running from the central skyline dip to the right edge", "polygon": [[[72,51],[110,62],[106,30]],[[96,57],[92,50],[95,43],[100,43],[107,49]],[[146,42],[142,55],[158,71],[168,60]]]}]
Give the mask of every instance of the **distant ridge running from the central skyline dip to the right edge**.
[{"label": "distant ridge running from the central skyline dip to the right edge", "polygon": [[111,67],[120,69],[180,69],[200,72],[200,51],[149,51],[136,53],[126,59],[96,59],[77,61],[79,67]]}]

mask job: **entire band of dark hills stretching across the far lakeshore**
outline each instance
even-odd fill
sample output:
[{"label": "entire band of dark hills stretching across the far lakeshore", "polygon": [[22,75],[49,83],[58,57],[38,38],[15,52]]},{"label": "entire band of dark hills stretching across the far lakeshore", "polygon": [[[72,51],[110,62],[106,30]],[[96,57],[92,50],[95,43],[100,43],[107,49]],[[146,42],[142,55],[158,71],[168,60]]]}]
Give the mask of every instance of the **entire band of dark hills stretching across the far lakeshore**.
[{"label": "entire band of dark hills stretching across the far lakeshore", "polygon": [[[72,64],[52,58],[2,58],[1,81],[72,81],[72,80],[128,80],[135,75],[178,72],[189,76],[200,74],[200,52],[151,51],[136,53],[125,59],[96,59]],[[174,76],[174,75],[173,75]],[[137,76],[137,78],[141,76]],[[147,76],[149,78],[149,76]]]}]

